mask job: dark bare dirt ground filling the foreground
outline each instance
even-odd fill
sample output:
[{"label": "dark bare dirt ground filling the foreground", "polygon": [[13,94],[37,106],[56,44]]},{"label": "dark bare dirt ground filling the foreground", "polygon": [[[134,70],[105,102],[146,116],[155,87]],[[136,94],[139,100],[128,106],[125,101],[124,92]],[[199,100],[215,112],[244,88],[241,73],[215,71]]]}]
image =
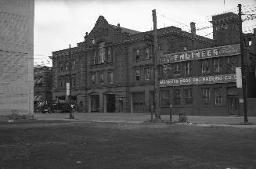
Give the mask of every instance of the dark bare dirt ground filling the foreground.
[{"label": "dark bare dirt ground filling the foreground", "polygon": [[0,125],[0,168],[256,168],[256,129],[34,120]]}]

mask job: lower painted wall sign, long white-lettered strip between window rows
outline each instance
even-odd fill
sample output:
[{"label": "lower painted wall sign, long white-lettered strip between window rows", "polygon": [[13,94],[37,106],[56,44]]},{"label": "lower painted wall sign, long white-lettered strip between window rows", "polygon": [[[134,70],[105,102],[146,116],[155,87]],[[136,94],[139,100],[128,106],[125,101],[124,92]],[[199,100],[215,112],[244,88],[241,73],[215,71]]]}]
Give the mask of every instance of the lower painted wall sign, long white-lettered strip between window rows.
[{"label": "lower painted wall sign, long white-lettered strip between window rows", "polygon": [[184,77],[160,80],[160,87],[181,86],[181,85],[203,85],[216,83],[236,82],[235,74],[224,74],[204,77]]}]

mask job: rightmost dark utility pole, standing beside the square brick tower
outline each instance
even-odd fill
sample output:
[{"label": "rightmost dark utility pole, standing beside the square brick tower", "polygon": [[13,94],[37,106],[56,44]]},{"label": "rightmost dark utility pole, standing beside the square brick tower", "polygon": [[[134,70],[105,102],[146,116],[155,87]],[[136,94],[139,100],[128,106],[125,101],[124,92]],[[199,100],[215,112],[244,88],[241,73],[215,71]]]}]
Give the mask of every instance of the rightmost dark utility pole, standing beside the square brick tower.
[{"label": "rightmost dark utility pole, standing beside the square brick tower", "polygon": [[241,4],[238,4],[238,16],[239,16],[239,31],[240,31],[240,52],[241,52],[241,73],[242,73],[242,88],[243,88],[243,115],[244,115],[244,123],[248,123],[247,117],[247,90],[246,90],[246,79],[245,79],[245,71],[244,71],[244,60],[243,60],[243,30],[242,30],[242,9]]}]

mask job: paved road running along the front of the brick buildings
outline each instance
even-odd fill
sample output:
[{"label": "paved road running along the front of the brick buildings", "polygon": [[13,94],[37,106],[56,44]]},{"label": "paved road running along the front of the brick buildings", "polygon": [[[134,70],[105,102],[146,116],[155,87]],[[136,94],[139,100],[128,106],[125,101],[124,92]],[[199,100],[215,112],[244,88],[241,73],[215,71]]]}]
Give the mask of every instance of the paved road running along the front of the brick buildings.
[{"label": "paved road running along the front of the brick buildings", "polygon": [[[34,113],[38,120],[69,120],[69,113]],[[94,122],[132,122],[141,123],[150,120],[150,113],[74,113],[75,120],[88,120]],[[162,115],[163,120],[169,120],[168,115]],[[256,124],[256,117],[248,117],[249,122]],[[173,116],[178,121],[178,116]],[[199,124],[242,124],[243,117],[204,117],[188,116],[191,123]]]}]

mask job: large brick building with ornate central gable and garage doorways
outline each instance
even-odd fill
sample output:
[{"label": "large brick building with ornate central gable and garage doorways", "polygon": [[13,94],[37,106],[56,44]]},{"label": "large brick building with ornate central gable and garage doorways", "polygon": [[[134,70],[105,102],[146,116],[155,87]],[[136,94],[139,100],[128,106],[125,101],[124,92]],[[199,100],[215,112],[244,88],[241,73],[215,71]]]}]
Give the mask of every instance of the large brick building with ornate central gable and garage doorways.
[{"label": "large brick building with ornate central gable and garage doorways", "polygon": [[[158,29],[159,51],[166,56],[216,46],[215,40],[196,34],[195,23],[191,23],[191,30],[189,33],[178,27]],[[172,63],[165,66],[169,64]],[[99,16],[85,41],[74,48],[52,52],[52,69],[53,99],[67,99],[66,83],[71,69],[71,99],[81,112],[150,112],[154,90],[153,31],[139,32],[111,25]],[[197,74],[195,70],[191,72]],[[165,80],[172,78],[172,74],[164,74]],[[173,87],[162,86],[161,91],[166,90],[169,92],[163,92],[161,102],[172,98]],[[162,104],[163,113],[166,105]]]}]

